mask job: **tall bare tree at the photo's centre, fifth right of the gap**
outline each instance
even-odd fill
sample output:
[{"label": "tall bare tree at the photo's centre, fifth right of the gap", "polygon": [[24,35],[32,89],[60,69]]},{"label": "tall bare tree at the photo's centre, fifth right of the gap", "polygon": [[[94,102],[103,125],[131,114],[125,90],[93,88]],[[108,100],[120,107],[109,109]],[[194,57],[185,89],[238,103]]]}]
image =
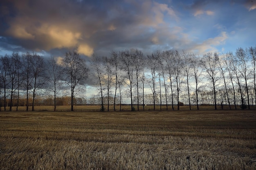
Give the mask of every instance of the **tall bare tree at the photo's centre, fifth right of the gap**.
[{"label": "tall bare tree at the photo's centre, fifth right of the gap", "polygon": [[[131,50],[132,51],[132,50]],[[131,55],[130,51],[125,50],[121,51],[121,62],[122,62],[122,69],[126,73],[129,79],[129,83],[127,85],[130,88],[130,100],[131,100],[131,110],[133,111],[133,105],[132,105],[132,82],[133,82],[133,72],[135,70],[134,66],[134,58],[133,55]]]}]

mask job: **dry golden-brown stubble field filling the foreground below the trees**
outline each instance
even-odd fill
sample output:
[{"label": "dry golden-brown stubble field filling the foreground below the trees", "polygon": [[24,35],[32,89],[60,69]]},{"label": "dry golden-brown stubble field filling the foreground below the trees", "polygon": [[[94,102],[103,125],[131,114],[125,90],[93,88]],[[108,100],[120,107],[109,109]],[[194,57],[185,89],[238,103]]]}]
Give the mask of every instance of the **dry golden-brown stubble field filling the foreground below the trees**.
[{"label": "dry golden-brown stubble field filling the foreground below the trees", "polygon": [[255,167],[255,110],[0,112],[1,170]]}]

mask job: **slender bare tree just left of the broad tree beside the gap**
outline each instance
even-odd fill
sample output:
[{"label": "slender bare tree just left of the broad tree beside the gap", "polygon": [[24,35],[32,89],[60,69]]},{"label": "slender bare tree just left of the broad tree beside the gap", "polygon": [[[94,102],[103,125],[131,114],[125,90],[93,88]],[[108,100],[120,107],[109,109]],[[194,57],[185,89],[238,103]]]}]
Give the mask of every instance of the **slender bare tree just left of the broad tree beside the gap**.
[{"label": "slender bare tree just left of the broad tree beside the gap", "polygon": [[49,73],[50,85],[49,90],[54,93],[54,111],[56,111],[56,97],[58,93],[63,89],[62,83],[63,79],[62,67],[58,63],[57,58],[51,57],[47,63],[47,72]]}]

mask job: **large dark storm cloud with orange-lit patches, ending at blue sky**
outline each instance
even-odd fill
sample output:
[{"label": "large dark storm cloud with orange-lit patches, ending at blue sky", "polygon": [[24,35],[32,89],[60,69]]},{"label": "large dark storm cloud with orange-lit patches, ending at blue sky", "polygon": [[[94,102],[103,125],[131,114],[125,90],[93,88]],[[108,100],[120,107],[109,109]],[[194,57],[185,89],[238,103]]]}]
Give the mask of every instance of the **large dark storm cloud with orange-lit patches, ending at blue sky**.
[{"label": "large dark storm cloud with orange-lit patches, ending at blue sky", "polygon": [[[84,55],[109,48],[154,45],[165,4],[151,1],[24,0],[1,5],[1,36],[28,50],[77,48]],[[152,13],[153,12],[153,13]]]}]

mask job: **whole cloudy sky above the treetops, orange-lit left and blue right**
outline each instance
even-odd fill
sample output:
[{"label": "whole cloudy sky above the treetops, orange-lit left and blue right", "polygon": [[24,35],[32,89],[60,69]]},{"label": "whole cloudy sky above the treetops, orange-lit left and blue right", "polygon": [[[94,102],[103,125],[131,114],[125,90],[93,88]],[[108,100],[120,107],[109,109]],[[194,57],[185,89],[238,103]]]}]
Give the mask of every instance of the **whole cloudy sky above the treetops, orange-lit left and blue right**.
[{"label": "whole cloudy sky above the treetops, orange-lit left and blue right", "polygon": [[111,50],[202,55],[256,45],[256,0],[1,0],[0,55]]}]

